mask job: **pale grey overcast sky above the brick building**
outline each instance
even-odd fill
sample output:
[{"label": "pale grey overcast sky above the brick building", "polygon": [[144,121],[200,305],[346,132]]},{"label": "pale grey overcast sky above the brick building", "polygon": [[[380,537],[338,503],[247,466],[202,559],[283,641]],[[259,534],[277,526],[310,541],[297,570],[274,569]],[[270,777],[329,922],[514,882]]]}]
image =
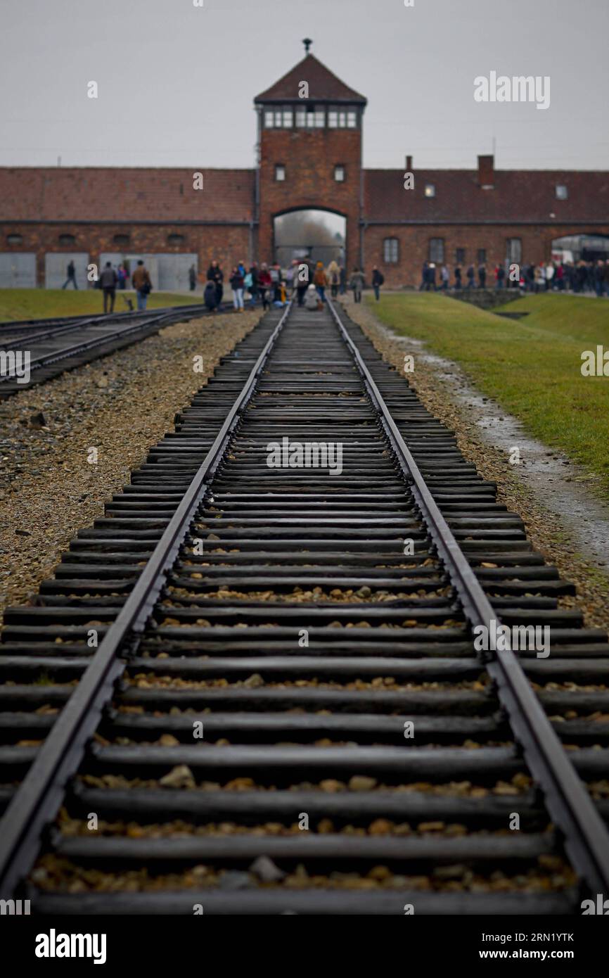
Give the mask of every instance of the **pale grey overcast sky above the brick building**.
[{"label": "pale grey overcast sky above the brick building", "polygon": [[[253,165],[253,97],[304,55],[367,96],[364,161],[609,168],[609,0],[2,0],[0,164]],[[549,75],[550,106],[473,79]],[[99,98],[87,98],[87,82]]]}]

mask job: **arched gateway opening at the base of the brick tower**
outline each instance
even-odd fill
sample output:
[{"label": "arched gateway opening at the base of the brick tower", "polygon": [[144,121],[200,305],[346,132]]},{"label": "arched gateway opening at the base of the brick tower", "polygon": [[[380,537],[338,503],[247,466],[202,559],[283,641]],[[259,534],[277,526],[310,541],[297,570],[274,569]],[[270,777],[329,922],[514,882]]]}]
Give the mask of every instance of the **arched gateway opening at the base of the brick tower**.
[{"label": "arched gateway opening at the base of the brick tower", "polygon": [[293,258],[327,265],[345,263],[347,219],[335,211],[303,207],[273,219],[275,260],[286,268]]}]

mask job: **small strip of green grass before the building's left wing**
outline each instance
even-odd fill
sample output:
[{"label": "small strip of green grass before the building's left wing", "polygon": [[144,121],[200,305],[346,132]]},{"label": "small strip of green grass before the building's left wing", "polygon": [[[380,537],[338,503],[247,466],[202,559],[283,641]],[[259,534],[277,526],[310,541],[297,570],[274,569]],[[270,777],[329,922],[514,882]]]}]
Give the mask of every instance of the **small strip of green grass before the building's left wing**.
[{"label": "small strip of green grass before the building's left wing", "polygon": [[[127,303],[123,296],[129,296],[137,307],[136,294],[125,289],[116,292],[115,312],[126,312]],[[197,289],[188,295],[174,292],[155,292],[149,295],[148,308],[160,306],[189,305],[202,302],[201,291]],[[13,319],[51,319],[54,316],[78,316],[80,313],[104,312],[104,293],[101,289],[0,289],[0,323]]]}]

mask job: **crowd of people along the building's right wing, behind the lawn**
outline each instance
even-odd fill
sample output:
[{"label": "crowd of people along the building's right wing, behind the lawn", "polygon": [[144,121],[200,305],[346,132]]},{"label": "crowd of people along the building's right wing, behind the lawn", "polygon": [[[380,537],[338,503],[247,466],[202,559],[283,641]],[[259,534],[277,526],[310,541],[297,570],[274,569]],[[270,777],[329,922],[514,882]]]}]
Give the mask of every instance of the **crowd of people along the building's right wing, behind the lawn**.
[{"label": "crowd of people along the building's right wing, behind the lawn", "polygon": [[524,292],[594,292],[597,296],[609,296],[609,259],[597,261],[547,261],[537,265],[496,265],[493,279],[487,276],[486,263],[477,268],[469,265],[465,270],[455,265],[453,283],[449,265],[439,267],[423,262],[419,291],[446,291],[447,289],[521,289]]}]

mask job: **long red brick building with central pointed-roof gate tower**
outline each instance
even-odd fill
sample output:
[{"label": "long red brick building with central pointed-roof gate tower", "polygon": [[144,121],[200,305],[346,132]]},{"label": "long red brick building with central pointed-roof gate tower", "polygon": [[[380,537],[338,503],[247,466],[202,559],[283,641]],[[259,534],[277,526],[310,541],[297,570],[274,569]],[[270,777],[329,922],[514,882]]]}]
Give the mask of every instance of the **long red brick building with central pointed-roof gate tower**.
[{"label": "long red brick building with central pointed-roof gate tower", "polygon": [[187,288],[214,257],[273,260],[278,217],[303,209],[344,218],[348,268],[396,287],[425,259],[539,262],[563,237],[609,256],[609,171],[366,170],[367,100],[308,53],[254,105],[253,169],[1,167],[0,286],[57,288],[70,257],[84,286],[88,263],[143,256],[157,288]]}]

